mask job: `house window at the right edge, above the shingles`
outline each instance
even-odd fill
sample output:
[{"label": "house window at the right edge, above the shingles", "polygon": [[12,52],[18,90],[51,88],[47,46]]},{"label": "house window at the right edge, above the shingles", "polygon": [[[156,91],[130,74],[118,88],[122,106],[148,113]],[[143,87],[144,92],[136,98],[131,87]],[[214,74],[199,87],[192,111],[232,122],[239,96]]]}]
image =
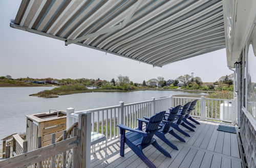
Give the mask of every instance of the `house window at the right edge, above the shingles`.
[{"label": "house window at the right edge, above the shingles", "polygon": [[247,58],[247,111],[256,118],[256,57],[252,45],[249,46]]}]

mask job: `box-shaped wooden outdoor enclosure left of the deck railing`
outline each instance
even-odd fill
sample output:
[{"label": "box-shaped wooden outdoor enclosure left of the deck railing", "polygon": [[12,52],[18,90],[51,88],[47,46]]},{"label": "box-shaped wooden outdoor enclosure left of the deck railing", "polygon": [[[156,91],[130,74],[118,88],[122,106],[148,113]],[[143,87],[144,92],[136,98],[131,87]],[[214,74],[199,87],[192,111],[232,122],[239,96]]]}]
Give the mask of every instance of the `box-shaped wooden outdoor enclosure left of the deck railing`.
[{"label": "box-shaped wooden outdoor enclosure left of the deck railing", "polygon": [[41,146],[52,144],[52,133],[59,138],[66,130],[66,112],[56,111],[52,113],[39,113],[27,115],[26,139],[28,151],[37,149],[37,138],[41,137]]}]

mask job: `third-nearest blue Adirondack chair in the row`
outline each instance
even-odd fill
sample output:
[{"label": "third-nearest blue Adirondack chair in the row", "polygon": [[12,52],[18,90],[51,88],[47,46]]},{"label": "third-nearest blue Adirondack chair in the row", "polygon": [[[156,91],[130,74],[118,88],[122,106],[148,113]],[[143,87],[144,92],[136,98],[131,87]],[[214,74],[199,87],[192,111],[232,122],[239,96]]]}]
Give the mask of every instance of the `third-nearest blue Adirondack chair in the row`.
[{"label": "third-nearest blue Adirondack chair in the row", "polygon": [[188,133],[186,133],[185,131],[183,131],[179,125],[182,125],[183,127],[187,128],[190,131],[195,131],[193,128],[190,128],[189,126],[187,126],[183,121],[183,117],[186,114],[186,111],[189,107],[191,102],[186,103],[184,106],[182,106],[182,109],[179,111],[179,114],[176,115],[176,120],[172,123],[172,127],[174,129],[176,129],[177,131],[179,131],[180,133],[182,133],[185,136],[190,136]]}]

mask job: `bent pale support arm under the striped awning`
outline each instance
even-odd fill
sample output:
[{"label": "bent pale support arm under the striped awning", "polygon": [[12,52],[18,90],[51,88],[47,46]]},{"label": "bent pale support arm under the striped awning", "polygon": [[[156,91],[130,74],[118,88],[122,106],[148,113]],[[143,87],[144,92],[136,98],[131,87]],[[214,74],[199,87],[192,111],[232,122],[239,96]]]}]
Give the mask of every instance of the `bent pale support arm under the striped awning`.
[{"label": "bent pale support arm under the striped awning", "polygon": [[93,37],[96,37],[96,36],[99,36],[99,35],[103,35],[105,33],[110,33],[110,32],[114,32],[114,31],[117,31],[119,29],[122,29],[132,19],[134,13],[139,8],[141,3],[142,3],[142,0],[138,0],[136,2],[136,4],[134,5],[134,7],[129,11],[129,13],[127,14],[125,19],[123,20],[123,22],[120,22],[118,25],[115,25],[115,26],[107,28],[107,29],[100,30],[100,31],[95,32],[95,33],[91,33],[91,34],[86,35],[86,36],[76,38],[74,40],[68,40],[67,39],[65,41],[65,45],[69,45],[69,44],[72,44],[72,43],[77,43],[79,41],[83,41],[83,40],[86,40],[86,39],[89,39],[89,38],[93,38]]}]

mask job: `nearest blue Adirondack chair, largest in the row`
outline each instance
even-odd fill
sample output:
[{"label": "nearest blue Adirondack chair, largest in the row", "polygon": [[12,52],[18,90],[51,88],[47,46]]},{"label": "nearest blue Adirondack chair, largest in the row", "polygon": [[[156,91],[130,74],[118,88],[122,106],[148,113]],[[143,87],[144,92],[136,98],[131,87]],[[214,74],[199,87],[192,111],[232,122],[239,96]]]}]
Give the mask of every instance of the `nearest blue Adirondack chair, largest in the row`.
[{"label": "nearest blue Adirondack chair, largest in the row", "polygon": [[[165,151],[153,138],[155,132],[159,130],[159,124],[164,117],[165,111],[162,111],[150,118],[147,122],[145,131],[142,130],[142,126],[138,129],[132,129],[125,125],[119,124],[121,140],[120,140],[120,155],[124,156],[124,143],[129,146],[134,153],[149,167],[156,167],[142,152],[142,150],[150,145],[153,145],[166,157],[171,157],[170,154]],[[146,121],[146,120],[145,120]],[[141,124],[142,125],[142,124]],[[125,132],[125,130],[129,132]]]}]

